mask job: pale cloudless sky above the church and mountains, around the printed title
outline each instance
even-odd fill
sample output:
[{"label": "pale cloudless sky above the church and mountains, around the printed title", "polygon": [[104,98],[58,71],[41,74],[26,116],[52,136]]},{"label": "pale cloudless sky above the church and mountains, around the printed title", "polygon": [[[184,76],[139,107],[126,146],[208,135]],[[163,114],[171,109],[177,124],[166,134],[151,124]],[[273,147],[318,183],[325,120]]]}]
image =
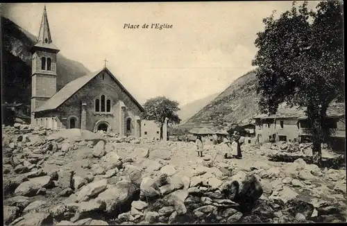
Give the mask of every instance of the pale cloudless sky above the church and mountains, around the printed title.
[{"label": "pale cloudless sky above the church and mountains, around the printed title", "polygon": [[[309,1],[309,8],[318,2]],[[38,35],[44,3],[1,7],[5,17]],[[167,96],[180,105],[221,93],[254,69],[262,19],[289,8],[291,1],[46,3],[60,54],[90,71],[101,69],[107,59],[108,69],[139,103]]]}]

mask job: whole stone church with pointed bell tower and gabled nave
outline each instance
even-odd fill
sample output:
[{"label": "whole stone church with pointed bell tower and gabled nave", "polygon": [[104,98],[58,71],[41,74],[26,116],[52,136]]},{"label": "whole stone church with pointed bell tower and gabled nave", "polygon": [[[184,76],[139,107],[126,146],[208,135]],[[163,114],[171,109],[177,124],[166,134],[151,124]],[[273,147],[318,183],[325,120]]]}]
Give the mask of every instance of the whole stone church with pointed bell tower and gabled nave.
[{"label": "whole stone church with pointed bell tower and gabled nave", "polygon": [[31,123],[141,137],[144,108],[106,67],[72,80],[57,92],[58,52],[45,6],[37,44],[31,49]]}]

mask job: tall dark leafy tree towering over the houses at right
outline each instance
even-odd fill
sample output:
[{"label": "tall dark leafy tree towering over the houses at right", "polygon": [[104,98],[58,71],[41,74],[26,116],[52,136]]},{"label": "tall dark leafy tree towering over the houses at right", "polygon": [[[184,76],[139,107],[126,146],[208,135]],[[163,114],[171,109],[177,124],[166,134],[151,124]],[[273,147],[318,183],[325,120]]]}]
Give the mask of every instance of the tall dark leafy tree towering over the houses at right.
[{"label": "tall dark leafy tree towering over the houses at right", "polygon": [[257,93],[260,110],[275,114],[280,103],[303,107],[312,134],[314,164],[321,166],[321,143],[330,130],[325,123],[332,101],[344,98],[343,3],[321,1],[316,12],[307,1],[263,20],[257,33],[259,49],[253,60],[258,66]]}]

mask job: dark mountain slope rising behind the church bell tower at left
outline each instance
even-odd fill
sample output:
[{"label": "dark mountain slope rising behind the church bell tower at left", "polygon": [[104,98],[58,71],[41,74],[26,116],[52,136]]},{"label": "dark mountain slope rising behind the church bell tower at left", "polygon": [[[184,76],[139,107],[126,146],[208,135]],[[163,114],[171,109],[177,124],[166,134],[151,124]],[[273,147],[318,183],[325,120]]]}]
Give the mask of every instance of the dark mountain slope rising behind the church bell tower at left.
[{"label": "dark mountain slope rising behind the church bell tower at left", "polygon": [[[19,27],[6,17],[1,17],[1,69],[2,101],[31,102],[31,46],[35,35]],[[69,60],[58,53],[57,86],[90,73],[83,64]]]}]

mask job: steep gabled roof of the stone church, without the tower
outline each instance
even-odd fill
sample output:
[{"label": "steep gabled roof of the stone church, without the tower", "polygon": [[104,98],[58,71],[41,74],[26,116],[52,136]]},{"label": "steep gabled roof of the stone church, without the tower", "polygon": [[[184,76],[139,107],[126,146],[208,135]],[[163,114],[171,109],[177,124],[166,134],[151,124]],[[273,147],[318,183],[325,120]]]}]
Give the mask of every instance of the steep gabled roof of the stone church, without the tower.
[{"label": "steep gabled roof of the stone church, without the tower", "polygon": [[62,87],[62,89],[60,89],[56,94],[54,94],[51,98],[49,98],[49,100],[44,102],[40,107],[37,107],[35,112],[42,112],[42,111],[46,111],[46,110],[55,110],[57,107],[62,105],[62,103],[65,103],[65,101],[67,101],[76,92],[78,92],[78,90],[80,90],[82,87],[84,87],[87,84],[87,82],[92,80],[92,78],[96,77],[97,75],[99,75],[99,73],[101,73],[101,71],[104,71],[104,70],[107,71],[108,73],[110,73],[111,78],[115,79],[115,82],[117,82],[119,87],[121,87],[121,89],[123,89],[124,92],[126,92],[126,94],[128,94],[128,96],[131,98],[131,100],[135,102],[137,107],[139,107],[139,109],[142,112],[144,112],[144,108],[142,107],[142,105],[140,105],[136,101],[136,99],[128,92],[128,90],[126,90],[126,88],[123,85],[121,85],[121,82],[119,82],[119,80],[117,80],[117,78],[115,78],[115,76],[107,68],[103,68],[99,71],[94,71],[90,74],[87,74],[87,75],[82,76],[80,78],[76,78],[75,80],[72,80],[71,82],[67,83],[67,85],[65,85],[65,87]]}]

